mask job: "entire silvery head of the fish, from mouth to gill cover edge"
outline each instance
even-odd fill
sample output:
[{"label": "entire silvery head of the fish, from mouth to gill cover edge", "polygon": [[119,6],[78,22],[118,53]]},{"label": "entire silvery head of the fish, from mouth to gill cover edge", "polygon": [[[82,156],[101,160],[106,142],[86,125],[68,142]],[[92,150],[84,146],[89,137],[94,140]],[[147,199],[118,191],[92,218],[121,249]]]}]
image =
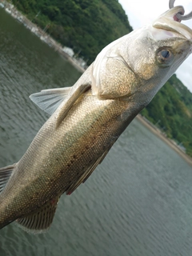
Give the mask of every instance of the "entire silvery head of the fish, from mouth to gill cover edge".
[{"label": "entire silvery head of the fish, from mouth to gill cover edge", "polygon": [[93,63],[93,93],[102,98],[138,93],[147,105],[191,54],[192,30],[176,18],[183,12],[176,6],[106,46]]}]

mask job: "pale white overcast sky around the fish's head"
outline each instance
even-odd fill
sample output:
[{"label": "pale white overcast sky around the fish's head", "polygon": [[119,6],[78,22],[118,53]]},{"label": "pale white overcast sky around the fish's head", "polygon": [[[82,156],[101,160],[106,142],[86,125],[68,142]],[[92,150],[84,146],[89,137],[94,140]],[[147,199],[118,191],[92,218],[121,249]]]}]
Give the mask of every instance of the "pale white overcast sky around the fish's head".
[{"label": "pale white overcast sky around the fish's head", "polygon": [[[134,30],[146,25],[146,23],[152,22],[169,9],[169,0],[118,0],[118,2],[126,11],[130,26],[132,26]],[[176,0],[174,6],[183,6],[186,11],[185,14],[189,14],[190,11],[192,11],[191,0]],[[192,29],[192,19],[182,21],[182,23]],[[176,74],[192,93],[192,54],[182,63],[176,71]]]}]

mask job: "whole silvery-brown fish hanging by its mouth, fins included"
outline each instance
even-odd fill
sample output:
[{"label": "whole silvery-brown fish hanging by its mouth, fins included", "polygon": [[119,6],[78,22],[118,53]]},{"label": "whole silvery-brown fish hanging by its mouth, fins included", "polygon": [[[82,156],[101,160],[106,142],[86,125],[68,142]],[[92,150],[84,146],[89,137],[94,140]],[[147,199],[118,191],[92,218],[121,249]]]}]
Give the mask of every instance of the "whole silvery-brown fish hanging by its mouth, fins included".
[{"label": "whole silvery-brown fish hanging by its mouth, fins included", "polygon": [[32,233],[49,229],[62,194],[86,182],[191,54],[192,30],[176,18],[183,11],[176,6],[111,42],[74,86],[30,95],[50,118],[22,158],[0,169],[0,229],[11,222]]}]

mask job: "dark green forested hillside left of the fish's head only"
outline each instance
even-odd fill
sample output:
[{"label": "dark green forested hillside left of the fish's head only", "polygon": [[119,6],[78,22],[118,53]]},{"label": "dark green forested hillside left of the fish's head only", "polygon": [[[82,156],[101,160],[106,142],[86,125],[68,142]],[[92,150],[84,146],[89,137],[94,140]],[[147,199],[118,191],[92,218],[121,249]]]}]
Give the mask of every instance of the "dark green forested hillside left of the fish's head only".
[{"label": "dark green forested hillside left of the fish's head only", "polygon": [[88,64],[110,42],[132,28],[117,0],[12,0],[34,23],[47,27],[63,46],[69,46]]}]

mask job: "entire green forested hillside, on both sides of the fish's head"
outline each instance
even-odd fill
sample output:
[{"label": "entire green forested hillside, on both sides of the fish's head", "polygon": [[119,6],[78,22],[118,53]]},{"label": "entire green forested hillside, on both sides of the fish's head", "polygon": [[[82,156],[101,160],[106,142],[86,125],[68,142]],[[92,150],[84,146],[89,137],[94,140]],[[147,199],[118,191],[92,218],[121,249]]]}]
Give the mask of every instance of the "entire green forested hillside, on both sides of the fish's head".
[{"label": "entire green forested hillside, on both sides of the fish's head", "polygon": [[[12,0],[32,22],[88,64],[132,28],[118,0]],[[192,156],[192,94],[174,75],[142,114]]]}]

